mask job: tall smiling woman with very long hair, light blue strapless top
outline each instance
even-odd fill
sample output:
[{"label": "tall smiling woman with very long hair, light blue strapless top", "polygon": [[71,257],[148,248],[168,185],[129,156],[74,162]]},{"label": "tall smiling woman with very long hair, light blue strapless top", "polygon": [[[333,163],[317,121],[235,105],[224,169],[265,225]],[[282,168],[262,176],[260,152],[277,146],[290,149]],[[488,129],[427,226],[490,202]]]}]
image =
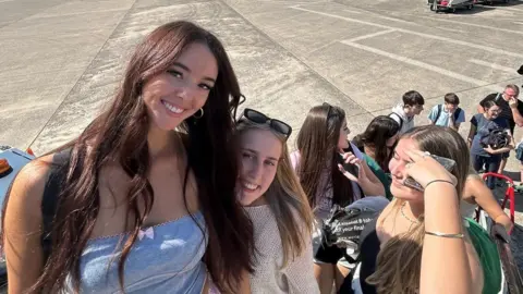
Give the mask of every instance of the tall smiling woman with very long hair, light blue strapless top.
[{"label": "tall smiling woman with very long hair, light blue strapless top", "polygon": [[2,219],[9,292],[236,291],[253,255],[235,199],[240,99],[212,34],[188,22],[150,33],[109,108],[15,179]]}]

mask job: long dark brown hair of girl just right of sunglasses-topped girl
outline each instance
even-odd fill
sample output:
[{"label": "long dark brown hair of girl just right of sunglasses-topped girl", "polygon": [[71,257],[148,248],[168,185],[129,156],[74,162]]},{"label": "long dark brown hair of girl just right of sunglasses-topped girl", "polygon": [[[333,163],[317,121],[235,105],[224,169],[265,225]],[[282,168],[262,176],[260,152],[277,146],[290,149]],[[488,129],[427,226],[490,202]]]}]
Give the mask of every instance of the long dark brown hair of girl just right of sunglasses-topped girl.
[{"label": "long dark brown hair of girl just right of sunglasses-topped girl", "polygon": [[[338,142],[344,121],[343,109],[324,103],[308,111],[297,134],[301,155],[297,174],[313,209],[316,208],[317,193],[325,193],[329,184],[332,185],[332,204],[345,206],[354,199],[351,181],[338,169]],[[320,186],[326,169],[330,183]]]}]

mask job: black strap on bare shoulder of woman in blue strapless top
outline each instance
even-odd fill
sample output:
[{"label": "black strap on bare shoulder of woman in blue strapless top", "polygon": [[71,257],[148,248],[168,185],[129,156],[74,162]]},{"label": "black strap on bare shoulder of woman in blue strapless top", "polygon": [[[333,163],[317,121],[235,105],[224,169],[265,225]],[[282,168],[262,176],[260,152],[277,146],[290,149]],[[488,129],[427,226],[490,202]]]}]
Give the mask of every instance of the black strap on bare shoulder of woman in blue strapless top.
[{"label": "black strap on bare shoulder of woman in blue strapless top", "polygon": [[41,197],[41,221],[42,233],[40,236],[41,249],[44,252],[44,260],[47,261],[51,253],[52,245],[52,222],[57,213],[58,195],[60,194],[62,183],[65,181],[68,172],[69,158],[71,157],[71,150],[60,151],[54,155],[52,162],[53,167],[49,172],[46,186],[44,188],[44,195]]}]

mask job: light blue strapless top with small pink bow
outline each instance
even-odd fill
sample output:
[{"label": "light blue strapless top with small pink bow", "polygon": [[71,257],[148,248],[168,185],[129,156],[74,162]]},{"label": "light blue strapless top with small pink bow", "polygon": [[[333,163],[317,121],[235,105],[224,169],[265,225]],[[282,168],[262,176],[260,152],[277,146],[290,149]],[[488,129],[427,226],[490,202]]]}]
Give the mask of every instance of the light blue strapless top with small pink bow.
[{"label": "light blue strapless top with small pink bow", "polygon": [[[197,212],[194,217],[205,230],[203,215]],[[202,257],[207,234],[202,233],[191,216],[151,226],[145,232],[142,240],[136,240],[125,260],[125,293],[199,294],[206,278]],[[118,279],[120,250],[114,254],[121,236],[94,238],[87,243],[80,268],[81,293],[121,293]],[[73,292],[69,279],[66,287]]]}]

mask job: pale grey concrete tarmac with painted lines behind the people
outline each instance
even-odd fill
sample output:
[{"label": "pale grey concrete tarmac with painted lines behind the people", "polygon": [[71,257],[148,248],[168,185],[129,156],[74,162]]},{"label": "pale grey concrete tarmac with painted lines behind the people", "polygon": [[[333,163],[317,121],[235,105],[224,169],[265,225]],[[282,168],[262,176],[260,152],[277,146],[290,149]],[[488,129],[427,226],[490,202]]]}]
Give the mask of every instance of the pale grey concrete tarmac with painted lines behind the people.
[{"label": "pale grey concrete tarmac with painted lines behind the people", "polygon": [[[434,13],[424,0],[0,0],[0,143],[42,154],[78,135],[113,97],[134,46],[174,20],[215,32],[247,97],[242,107],[294,134],[324,101],[343,107],[357,134],[410,89],[426,99],[416,119],[425,124],[446,93],[458,94],[469,120],[487,94],[523,82],[522,1]],[[507,172],[519,181],[519,169],[512,155]],[[516,210],[523,224],[523,199]]]}]

